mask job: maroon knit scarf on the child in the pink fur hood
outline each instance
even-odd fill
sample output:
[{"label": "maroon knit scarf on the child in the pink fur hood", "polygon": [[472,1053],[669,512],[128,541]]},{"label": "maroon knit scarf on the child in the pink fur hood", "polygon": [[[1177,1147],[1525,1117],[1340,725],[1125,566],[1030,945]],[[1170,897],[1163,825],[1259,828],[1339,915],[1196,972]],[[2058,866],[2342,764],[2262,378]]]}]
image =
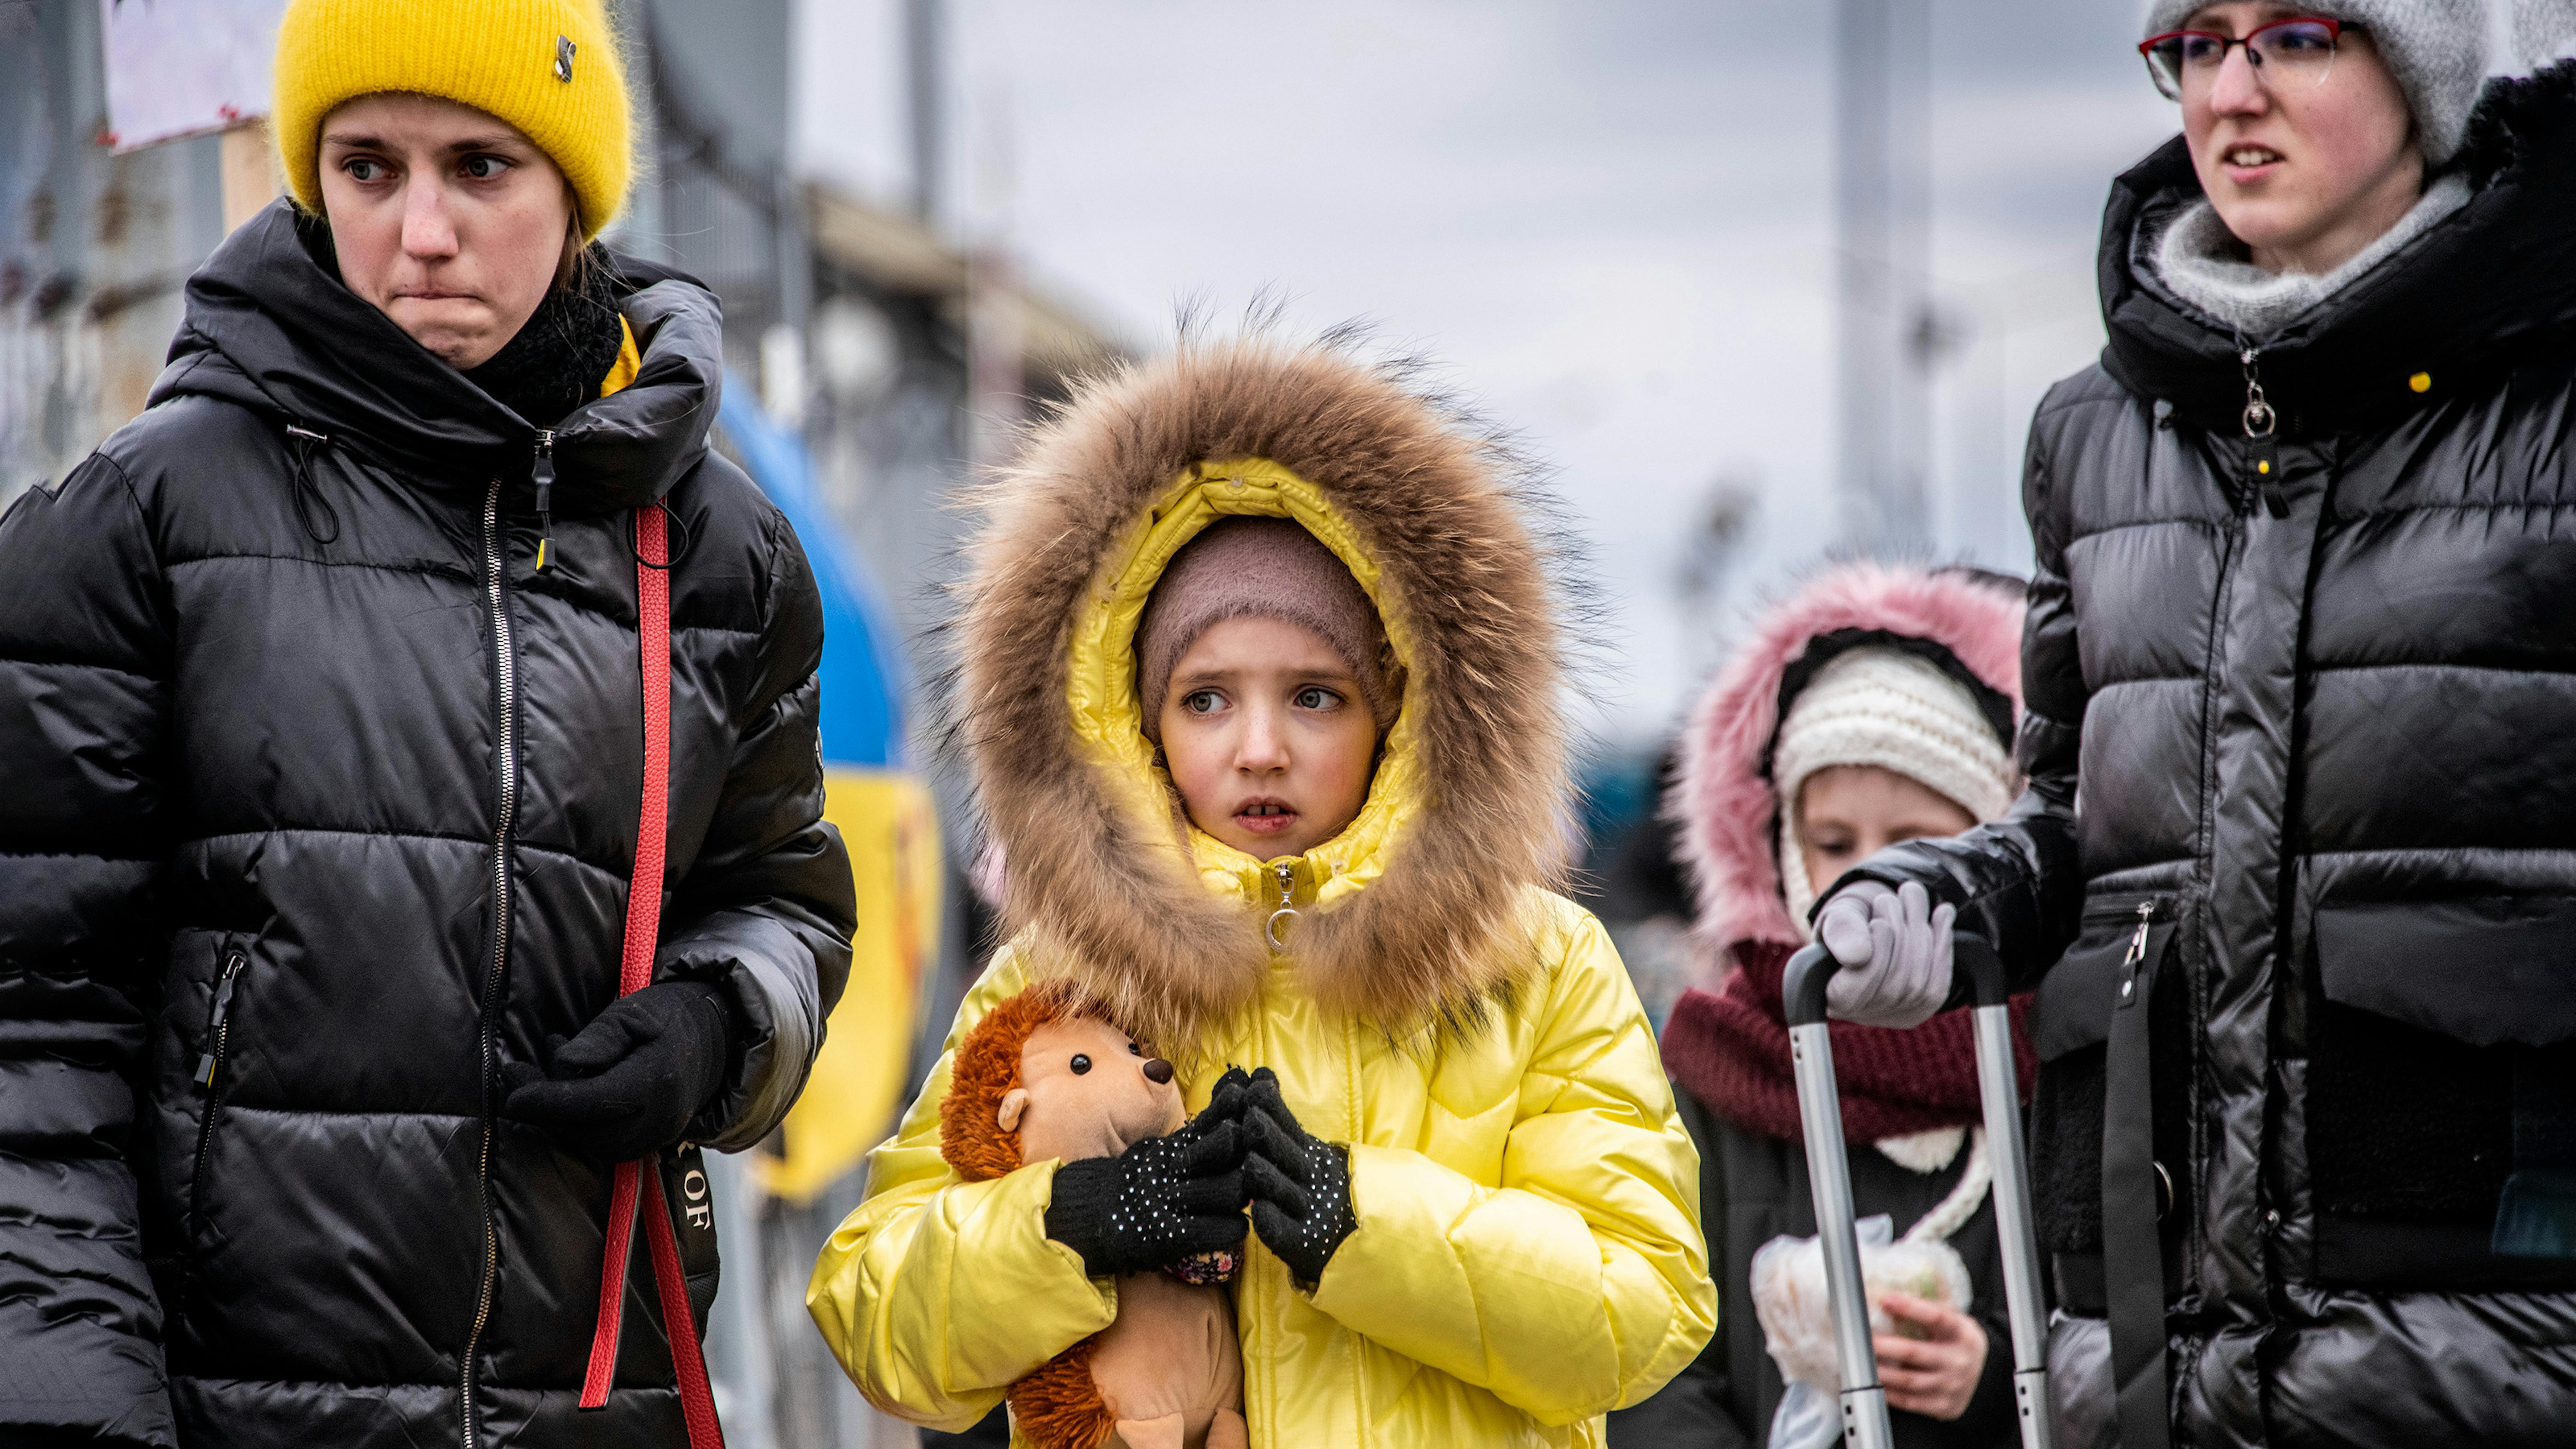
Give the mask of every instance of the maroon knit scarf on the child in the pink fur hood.
[{"label": "maroon knit scarf on the child in the pink fur hood", "polygon": [[[1798,1084],[1788,1066],[1780,970],[1790,947],[1736,942],[1718,991],[1690,991],[1664,1024],[1664,1068],[1710,1112],[1747,1132],[1798,1138]],[[1911,1032],[1834,1022],[1834,1084],[1842,1135],[1904,1138],[1984,1120],[1976,1099],[1976,1037],[1968,1011],[1942,1011]],[[2012,999],[2012,1060],[2022,1102],[2040,1058],[2030,1050],[2030,996]]]}]

